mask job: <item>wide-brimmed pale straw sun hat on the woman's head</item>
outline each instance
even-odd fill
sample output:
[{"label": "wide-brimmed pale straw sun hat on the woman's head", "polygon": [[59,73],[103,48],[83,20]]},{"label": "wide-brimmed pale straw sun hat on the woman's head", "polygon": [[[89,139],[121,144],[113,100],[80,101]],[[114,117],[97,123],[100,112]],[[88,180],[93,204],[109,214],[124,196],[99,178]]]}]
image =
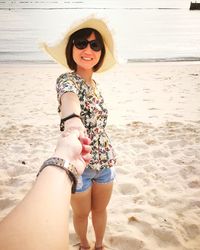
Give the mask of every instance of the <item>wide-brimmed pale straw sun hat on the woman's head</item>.
[{"label": "wide-brimmed pale straw sun hat on the woman's head", "polygon": [[106,23],[98,18],[87,18],[81,23],[74,25],[71,29],[65,34],[64,38],[58,42],[55,46],[48,46],[46,43],[42,43],[41,47],[51,56],[55,61],[62,64],[64,67],[69,68],[67,65],[67,60],[65,56],[65,49],[69,40],[69,37],[76,32],[77,30],[83,28],[93,28],[99,31],[102,35],[104,45],[105,45],[105,57],[102,66],[98,69],[97,72],[103,72],[110,69],[115,63],[114,57],[114,44],[111,32],[109,31]]}]

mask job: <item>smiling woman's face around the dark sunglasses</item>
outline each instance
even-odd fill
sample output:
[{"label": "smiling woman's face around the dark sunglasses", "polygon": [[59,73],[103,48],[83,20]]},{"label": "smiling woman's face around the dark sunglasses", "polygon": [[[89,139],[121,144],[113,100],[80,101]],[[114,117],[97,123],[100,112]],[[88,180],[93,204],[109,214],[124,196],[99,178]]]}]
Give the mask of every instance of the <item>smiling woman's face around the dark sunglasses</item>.
[{"label": "smiling woman's face around the dark sunglasses", "polygon": [[[92,41],[95,40],[95,34],[92,33],[87,40]],[[94,51],[91,49],[90,44],[87,45],[85,49],[78,49],[76,46],[73,46],[73,59],[77,64],[77,70],[79,68],[88,70],[92,69],[98,62],[101,57],[101,50]]]}]

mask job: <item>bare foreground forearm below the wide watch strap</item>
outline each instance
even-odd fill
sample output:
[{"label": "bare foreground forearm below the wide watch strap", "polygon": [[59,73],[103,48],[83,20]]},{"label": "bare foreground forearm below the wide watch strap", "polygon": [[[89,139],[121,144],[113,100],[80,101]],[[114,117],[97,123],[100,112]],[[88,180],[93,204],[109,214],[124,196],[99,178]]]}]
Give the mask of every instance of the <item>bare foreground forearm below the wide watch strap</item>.
[{"label": "bare foreground forearm below the wide watch strap", "polygon": [[24,200],[1,222],[0,250],[68,249],[71,181],[46,167]]}]

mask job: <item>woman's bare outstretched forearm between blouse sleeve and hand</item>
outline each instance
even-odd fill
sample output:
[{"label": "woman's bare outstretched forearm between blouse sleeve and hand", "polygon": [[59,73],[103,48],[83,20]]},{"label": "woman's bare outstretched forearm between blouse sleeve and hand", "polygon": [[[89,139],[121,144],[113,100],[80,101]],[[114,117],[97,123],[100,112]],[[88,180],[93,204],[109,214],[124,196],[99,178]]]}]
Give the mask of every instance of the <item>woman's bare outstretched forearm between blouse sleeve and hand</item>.
[{"label": "woman's bare outstretched forearm between blouse sleeve and hand", "polygon": [[[80,102],[76,94],[65,93],[61,97],[61,117],[64,118],[72,113],[80,115]],[[65,129],[76,128],[80,131],[85,131],[83,123],[79,118],[72,118],[65,121]]]}]

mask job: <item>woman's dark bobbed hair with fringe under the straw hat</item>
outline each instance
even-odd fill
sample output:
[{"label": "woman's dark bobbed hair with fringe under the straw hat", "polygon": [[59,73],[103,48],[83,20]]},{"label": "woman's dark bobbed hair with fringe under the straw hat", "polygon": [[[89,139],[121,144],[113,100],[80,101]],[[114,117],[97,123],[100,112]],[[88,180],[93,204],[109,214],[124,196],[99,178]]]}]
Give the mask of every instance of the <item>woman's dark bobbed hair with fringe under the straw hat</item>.
[{"label": "woman's dark bobbed hair with fringe under the straw hat", "polygon": [[99,62],[93,67],[93,71],[94,72],[97,71],[101,67],[101,65],[103,64],[103,60],[105,57],[105,46],[104,46],[104,42],[103,42],[103,38],[102,38],[101,34],[95,29],[84,28],[84,29],[80,29],[80,30],[74,32],[69,37],[69,41],[68,41],[66,49],[65,49],[65,56],[67,59],[67,64],[71,70],[75,70],[75,71],[77,70],[77,65],[73,59],[73,46],[74,46],[73,41],[75,39],[86,39],[92,33],[95,34],[96,40],[102,44],[101,56],[100,56]]}]

